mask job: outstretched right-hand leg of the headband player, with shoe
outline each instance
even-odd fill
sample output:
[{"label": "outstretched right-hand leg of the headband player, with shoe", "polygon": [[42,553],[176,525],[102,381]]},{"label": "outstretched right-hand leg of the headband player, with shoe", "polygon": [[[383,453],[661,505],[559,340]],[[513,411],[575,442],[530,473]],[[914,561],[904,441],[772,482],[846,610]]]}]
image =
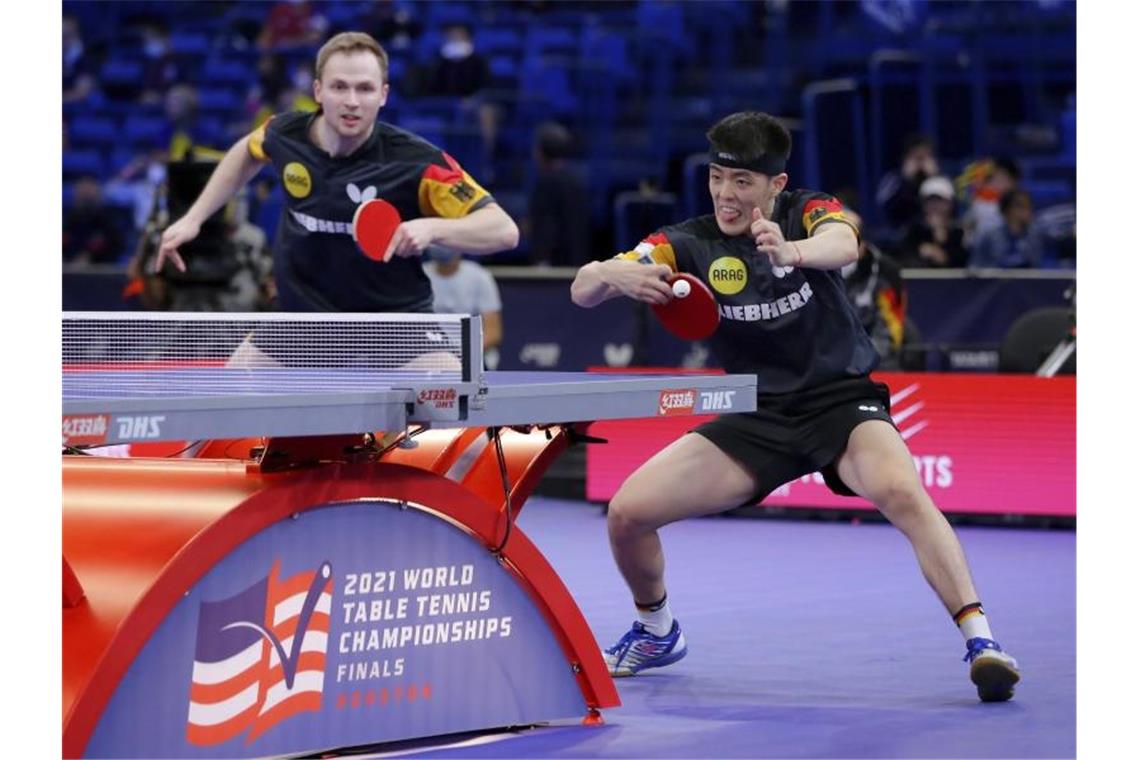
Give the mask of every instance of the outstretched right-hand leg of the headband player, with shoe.
[{"label": "outstretched right-hand leg of the headband player, with shoe", "polygon": [[1017,662],[993,640],[962,545],[922,487],[898,431],[882,420],[860,424],[836,469],[910,540],[922,574],[967,640],[970,677],[982,700],[1010,698],[1019,679]]}]

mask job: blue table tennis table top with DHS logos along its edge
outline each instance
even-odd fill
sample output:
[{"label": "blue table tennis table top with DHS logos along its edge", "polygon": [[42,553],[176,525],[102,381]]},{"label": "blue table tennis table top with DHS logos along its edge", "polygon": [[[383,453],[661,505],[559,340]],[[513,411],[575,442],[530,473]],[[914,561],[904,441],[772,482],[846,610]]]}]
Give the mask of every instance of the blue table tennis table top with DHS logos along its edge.
[{"label": "blue table tennis table top with DHS logos along its edge", "polygon": [[[752,375],[222,367],[70,369],[64,440],[328,435],[751,411]],[[84,434],[76,438],[76,431]],[[91,431],[96,431],[93,435]]]}]

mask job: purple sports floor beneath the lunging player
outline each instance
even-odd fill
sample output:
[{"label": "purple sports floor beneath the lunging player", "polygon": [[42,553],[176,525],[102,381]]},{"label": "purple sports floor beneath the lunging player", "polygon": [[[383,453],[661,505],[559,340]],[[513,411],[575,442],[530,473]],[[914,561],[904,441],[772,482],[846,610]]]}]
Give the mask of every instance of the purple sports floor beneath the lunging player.
[{"label": "purple sports floor beneath the lunging player", "polygon": [[[601,509],[535,498],[519,524],[600,644],[617,640],[633,607]],[[994,634],[1021,665],[1012,702],[978,702],[961,636],[889,525],[712,517],[662,531],[689,656],[618,680],[622,705],[604,726],[372,757],[1075,757],[1075,534],[958,533]]]}]

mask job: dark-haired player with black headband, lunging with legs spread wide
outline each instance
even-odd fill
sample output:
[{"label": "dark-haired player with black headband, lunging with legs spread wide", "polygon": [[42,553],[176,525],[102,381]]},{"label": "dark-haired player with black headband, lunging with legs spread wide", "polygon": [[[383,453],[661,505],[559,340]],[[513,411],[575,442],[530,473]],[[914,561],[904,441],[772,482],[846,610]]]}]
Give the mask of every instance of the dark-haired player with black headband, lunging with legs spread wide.
[{"label": "dark-haired player with black headband, lunging with legs spread wide", "polygon": [[665,278],[700,277],[716,295],[711,348],[728,373],[757,376],[757,411],[725,415],[684,435],[621,485],[608,516],[618,569],[638,620],[605,652],[614,676],[676,662],[685,639],[669,610],[658,529],[751,504],[821,471],[832,491],[858,495],[910,539],[923,575],[966,638],[983,701],[1010,698],[1017,662],[994,641],[966,556],[930,500],[890,418],[870,338],[839,269],[858,239],[831,196],[787,191],[791,137],[767,114],[732,114],[708,132],[715,213],[665,227],[634,250],[578,270],[580,307],[624,295],[665,303]]}]

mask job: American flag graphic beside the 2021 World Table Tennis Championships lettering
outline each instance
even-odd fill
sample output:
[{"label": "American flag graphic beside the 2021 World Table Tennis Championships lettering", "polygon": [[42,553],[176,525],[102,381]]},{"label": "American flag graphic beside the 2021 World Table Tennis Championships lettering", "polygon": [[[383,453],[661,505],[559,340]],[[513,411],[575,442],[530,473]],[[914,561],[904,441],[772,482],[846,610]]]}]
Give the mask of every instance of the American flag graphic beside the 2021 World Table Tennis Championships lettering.
[{"label": "American flag graphic beside the 2021 World Table Tennis Championships lettering", "polygon": [[328,652],[333,571],[267,578],[234,596],[202,602],[186,738],[246,744],[299,712],[319,710]]}]

